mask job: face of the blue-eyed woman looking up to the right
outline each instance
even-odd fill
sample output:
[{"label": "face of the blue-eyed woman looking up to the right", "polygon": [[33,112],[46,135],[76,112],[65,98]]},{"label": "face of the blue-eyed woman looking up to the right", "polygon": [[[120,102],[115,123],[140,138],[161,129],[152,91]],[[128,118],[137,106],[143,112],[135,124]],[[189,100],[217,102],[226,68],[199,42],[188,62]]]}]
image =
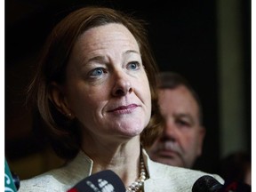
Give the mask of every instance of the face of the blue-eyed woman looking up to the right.
[{"label": "face of the blue-eyed woman looking up to the right", "polygon": [[124,140],[148,124],[148,77],[139,45],[123,25],[91,28],[78,38],[61,89],[84,135]]}]

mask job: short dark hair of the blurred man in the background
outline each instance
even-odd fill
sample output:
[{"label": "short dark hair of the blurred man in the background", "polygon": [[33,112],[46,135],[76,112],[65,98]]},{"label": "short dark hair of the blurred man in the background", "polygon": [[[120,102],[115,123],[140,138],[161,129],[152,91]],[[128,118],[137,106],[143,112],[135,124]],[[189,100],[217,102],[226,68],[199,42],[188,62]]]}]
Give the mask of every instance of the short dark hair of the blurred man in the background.
[{"label": "short dark hair of the blurred man in the background", "polygon": [[196,100],[199,113],[199,123],[203,125],[203,108],[201,100],[199,99],[199,96],[196,93],[195,89],[192,87],[191,84],[189,84],[188,80],[184,76],[181,76],[180,74],[171,71],[163,71],[157,75],[158,89],[175,89],[181,85],[187,87],[188,91],[191,92],[193,98]]}]

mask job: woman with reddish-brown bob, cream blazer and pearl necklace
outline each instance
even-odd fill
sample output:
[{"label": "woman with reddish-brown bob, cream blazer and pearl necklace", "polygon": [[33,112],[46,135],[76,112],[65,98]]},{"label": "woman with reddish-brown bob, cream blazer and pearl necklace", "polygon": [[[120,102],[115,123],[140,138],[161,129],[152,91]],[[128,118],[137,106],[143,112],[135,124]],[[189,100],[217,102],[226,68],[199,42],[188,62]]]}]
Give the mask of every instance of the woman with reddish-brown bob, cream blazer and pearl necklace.
[{"label": "woman with reddish-brown bob, cream blazer and pearl necklace", "polygon": [[60,21],[28,99],[36,101],[52,147],[67,164],[22,180],[19,191],[67,191],[102,170],[116,172],[127,191],[190,191],[204,172],[154,163],[144,150],[161,132],[156,73],[139,20],[84,7]]}]

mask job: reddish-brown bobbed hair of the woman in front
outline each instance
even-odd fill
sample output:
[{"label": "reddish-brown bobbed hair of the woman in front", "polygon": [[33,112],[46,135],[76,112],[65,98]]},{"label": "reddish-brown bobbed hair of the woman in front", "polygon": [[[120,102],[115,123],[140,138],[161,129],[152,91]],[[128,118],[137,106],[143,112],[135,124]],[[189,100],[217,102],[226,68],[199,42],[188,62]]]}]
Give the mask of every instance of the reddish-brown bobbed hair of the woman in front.
[{"label": "reddish-brown bobbed hair of the woman in front", "polygon": [[141,144],[145,148],[149,147],[161,132],[158,126],[161,122],[161,116],[157,106],[156,92],[158,68],[149,46],[146,22],[107,7],[87,6],[79,8],[69,13],[53,28],[44,46],[42,58],[38,62],[36,75],[28,86],[27,100],[36,105],[36,111],[44,120],[44,128],[48,133],[52,148],[62,158],[72,159],[76,156],[81,145],[81,134],[76,120],[71,121],[52,104],[49,99],[50,84],[52,82],[65,83],[68,59],[77,38],[90,28],[109,23],[124,25],[135,37],[148,76],[152,111],[148,126],[140,134]]}]

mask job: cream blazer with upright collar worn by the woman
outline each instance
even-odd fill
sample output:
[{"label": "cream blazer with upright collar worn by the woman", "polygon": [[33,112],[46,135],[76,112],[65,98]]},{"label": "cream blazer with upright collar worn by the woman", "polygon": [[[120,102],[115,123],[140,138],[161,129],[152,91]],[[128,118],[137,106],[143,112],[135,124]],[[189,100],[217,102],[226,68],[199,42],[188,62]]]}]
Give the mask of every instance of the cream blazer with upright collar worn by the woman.
[{"label": "cream blazer with upright collar worn by the woman", "polygon": [[[144,182],[144,192],[191,192],[195,181],[206,174],[224,183],[216,174],[153,162],[144,149],[143,158],[149,175]],[[80,151],[74,160],[63,167],[21,180],[19,192],[67,192],[78,181],[92,174],[92,164],[92,159]]]}]

